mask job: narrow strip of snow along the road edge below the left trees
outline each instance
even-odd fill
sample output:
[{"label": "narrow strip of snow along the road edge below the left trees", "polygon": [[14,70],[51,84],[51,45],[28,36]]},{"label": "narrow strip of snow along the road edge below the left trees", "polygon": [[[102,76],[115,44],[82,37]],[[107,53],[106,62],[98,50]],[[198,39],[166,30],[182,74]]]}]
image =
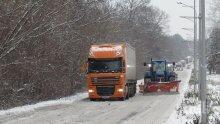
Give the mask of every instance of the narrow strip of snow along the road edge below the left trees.
[{"label": "narrow strip of snow along the road edge below the left trees", "polygon": [[9,115],[9,114],[19,114],[22,112],[30,112],[34,111],[37,108],[47,107],[47,106],[55,106],[62,104],[72,104],[74,101],[86,98],[88,96],[87,93],[77,93],[76,95],[60,98],[57,100],[44,101],[37,104],[25,105],[21,107],[15,107],[7,110],[0,110],[0,116]]}]

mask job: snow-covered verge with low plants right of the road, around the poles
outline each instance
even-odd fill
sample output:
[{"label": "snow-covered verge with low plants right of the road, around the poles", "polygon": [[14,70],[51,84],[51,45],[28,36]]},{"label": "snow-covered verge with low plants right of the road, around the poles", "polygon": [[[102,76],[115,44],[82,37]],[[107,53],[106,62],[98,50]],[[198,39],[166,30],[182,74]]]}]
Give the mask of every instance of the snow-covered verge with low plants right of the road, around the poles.
[{"label": "snow-covered verge with low plants right of the road, around the poles", "polygon": [[[217,124],[220,118],[220,75],[208,75],[207,76],[207,88],[208,88],[208,99],[209,99],[209,124]],[[193,90],[189,87],[188,90],[185,90],[183,94],[184,97],[181,97],[176,111],[174,111],[168,121],[165,124],[196,124],[199,120],[201,112],[201,103],[197,97],[192,95],[198,95],[197,93],[193,94]],[[189,95],[189,96],[188,96]]]}]

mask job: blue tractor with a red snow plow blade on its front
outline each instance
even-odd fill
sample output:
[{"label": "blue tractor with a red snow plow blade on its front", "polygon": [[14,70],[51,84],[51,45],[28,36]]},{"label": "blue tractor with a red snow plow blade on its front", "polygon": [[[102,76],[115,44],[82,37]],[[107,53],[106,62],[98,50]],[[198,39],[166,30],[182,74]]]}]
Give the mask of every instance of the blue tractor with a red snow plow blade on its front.
[{"label": "blue tractor with a red snow plow blade on its front", "polygon": [[144,83],[139,85],[140,92],[179,92],[180,80],[174,72],[175,62],[166,60],[152,60],[144,63],[147,71],[144,75]]}]

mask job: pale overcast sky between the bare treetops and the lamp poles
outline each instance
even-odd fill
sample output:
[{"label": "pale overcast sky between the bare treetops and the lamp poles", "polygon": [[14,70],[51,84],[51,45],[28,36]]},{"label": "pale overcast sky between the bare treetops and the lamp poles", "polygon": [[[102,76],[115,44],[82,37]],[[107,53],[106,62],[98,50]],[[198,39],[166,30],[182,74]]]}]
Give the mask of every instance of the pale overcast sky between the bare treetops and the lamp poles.
[{"label": "pale overcast sky between the bare treetops and the lamp poles", "polygon": [[182,19],[179,16],[193,16],[193,9],[182,7],[181,5],[177,4],[177,1],[181,1],[188,5],[193,5],[193,0],[151,0],[151,4],[168,13],[170,34],[178,33],[184,38],[191,39],[193,36],[193,31],[186,31],[182,28],[191,28],[193,30],[193,22]]}]

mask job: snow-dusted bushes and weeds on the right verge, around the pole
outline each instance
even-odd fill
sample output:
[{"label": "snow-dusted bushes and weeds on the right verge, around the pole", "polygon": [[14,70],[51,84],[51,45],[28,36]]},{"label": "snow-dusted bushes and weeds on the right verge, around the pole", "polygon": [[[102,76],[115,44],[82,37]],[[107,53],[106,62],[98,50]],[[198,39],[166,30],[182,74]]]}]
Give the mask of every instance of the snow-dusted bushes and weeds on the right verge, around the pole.
[{"label": "snow-dusted bushes and weeds on the right verge, around the pole", "polygon": [[[184,93],[184,98],[177,107],[178,119],[184,120],[185,124],[199,124],[201,117],[201,102],[199,96],[199,89],[194,91],[195,76],[192,73],[189,81],[189,89]],[[208,108],[208,124],[220,124],[220,92],[217,90],[218,85],[208,76],[207,88],[207,108]]]}]

